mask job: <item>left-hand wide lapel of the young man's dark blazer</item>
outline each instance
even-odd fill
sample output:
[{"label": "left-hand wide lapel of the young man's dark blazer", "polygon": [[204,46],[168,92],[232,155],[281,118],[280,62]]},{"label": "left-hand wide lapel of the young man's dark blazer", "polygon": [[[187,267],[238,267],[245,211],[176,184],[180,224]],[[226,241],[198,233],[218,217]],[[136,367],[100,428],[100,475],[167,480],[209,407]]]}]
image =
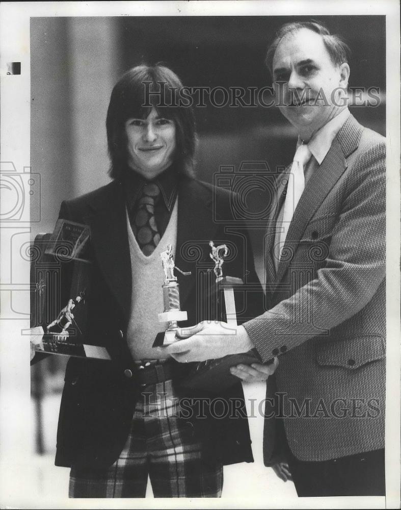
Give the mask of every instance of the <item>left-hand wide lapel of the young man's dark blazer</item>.
[{"label": "left-hand wide lapel of the young man's dark blazer", "polygon": [[105,281],[128,320],[131,303],[131,261],[126,227],[125,199],[118,182],[110,185],[111,193],[93,200],[91,213],[85,218],[91,229],[94,257]]}]

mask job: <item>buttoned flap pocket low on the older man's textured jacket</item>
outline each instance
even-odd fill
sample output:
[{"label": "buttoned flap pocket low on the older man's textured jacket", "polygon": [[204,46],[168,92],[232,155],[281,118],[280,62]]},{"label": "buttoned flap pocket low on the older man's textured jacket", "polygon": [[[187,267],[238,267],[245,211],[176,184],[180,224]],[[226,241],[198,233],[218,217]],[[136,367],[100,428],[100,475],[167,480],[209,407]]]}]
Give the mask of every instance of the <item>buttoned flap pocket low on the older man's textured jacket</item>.
[{"label": "buttoned flap pocket low on the older man's textured jacket", "polygon": [[381,336],[363,336],[349,340],[318,342],[316,361],[322,367],[342,367],[356,370],[386,357],[386,346]]}]

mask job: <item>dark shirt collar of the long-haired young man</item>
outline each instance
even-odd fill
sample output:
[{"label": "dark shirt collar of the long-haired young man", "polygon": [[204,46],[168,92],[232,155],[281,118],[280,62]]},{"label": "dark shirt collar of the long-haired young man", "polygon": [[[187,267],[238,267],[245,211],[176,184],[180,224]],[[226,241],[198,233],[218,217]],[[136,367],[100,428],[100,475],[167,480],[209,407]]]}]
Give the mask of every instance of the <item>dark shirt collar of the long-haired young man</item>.
[{"label": "dark shirt collar of the long-haired young man", "polygon": [[169,211],[174,206],[177,196],[179,176],[174,168],[169,167],[152,181],[147,181],[139,173],[130,168],[124,168],[121,182],[124,186],[125,199],[130,210],[141,195],[142,188],[149,183],[155,183],[160,188],[161,196]]}]

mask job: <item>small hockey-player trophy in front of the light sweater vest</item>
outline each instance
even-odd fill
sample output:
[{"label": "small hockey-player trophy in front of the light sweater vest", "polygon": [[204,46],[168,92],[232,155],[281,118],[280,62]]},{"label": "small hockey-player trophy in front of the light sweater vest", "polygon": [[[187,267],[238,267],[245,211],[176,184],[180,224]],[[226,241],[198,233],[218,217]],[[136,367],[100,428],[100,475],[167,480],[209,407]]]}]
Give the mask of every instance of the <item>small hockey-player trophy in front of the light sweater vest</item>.
[{"label": "small hockey-player trophy in front of the light sweater vest", "polygon": [[[158,314],[158,320],[159,322],[168,321],[169,325],[164,334],[159,333],[156,336],[153,347],[159,345],[169,345],[175,342],[177,340],[175,338],[175,333],[178,329],[177,321],[186,320],[188,318],[186,312],[182,312],[180,310],[179,285],[177,284],[177,277],[174,276],[174,269],[179,271],[184,276],[189,276],[191,271],[184,272],[175,266],[173,258],[173,247],[171,244],[167,245],[167,250],[162,251],[160,257],[162,258],[165,281],[164,285],[162,286],[164,312]],[[162,344],[160,343],[161,337],[163,337]]]}]

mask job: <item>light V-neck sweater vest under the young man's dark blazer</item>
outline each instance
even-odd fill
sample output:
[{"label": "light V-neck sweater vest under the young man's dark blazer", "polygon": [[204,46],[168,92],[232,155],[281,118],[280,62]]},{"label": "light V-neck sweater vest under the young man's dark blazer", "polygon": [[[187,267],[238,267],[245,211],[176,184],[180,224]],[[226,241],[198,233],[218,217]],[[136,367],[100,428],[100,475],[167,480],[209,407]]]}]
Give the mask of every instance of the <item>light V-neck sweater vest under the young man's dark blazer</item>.
[{"label": "light V-neck sweater vest under the young man's dark blazer", "polygon": [[152,348],[152,344],[157,333],[165,331],[168,325],[167,322],[159,322],[157,317],[157,314],[164,311],[162,285],[165,276],[160,254],[167,249],[168,244],[171,244],[175,256],[177,209],[178,198],[175,201],[166,231],[149,257],[142,253],[132,233],[128,213],[126,214],[132,272],[131,311],[127,342],[134,360],[166,358],[162,349],[160,347]]}]

